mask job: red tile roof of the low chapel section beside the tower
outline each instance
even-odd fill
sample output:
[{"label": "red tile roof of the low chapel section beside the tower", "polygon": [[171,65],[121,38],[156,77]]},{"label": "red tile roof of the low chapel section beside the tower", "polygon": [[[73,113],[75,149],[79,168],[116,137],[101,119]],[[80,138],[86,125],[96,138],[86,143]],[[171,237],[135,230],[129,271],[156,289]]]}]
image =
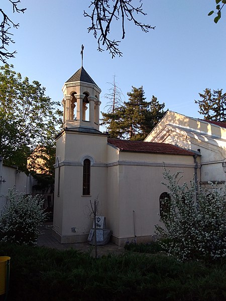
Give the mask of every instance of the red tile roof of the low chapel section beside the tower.
[{"label": "red tile roof of the low chapel section beside the tower", "polygon": [[112,138],[108,138],[107,141],[108,143],[118,147],[122,152],[154,153],[185,156],[194,155],[194,153],[190,152],[187,149],[180,148],[169,143],[131,141]]}]

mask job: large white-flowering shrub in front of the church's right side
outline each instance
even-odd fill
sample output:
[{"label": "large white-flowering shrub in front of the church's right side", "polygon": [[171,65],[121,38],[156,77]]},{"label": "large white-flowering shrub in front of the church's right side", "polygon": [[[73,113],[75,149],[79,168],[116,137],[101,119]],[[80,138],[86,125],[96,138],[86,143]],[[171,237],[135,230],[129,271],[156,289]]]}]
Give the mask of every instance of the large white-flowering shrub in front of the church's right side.
[{"label": "large white-flowering shrub in front of the church's right side", "polygon": [[[211,184],[211,189],[179,185],[181,173],[170,175],[166,170],[165,186],[170,199],[163,200],[161,220],[164,226],[156,225],[157,233],[166,238],[162,246],[168,255],[179,260],[216,260],[226,257],[226,194],[225,186]],[[167,205],[168,204],[168,205]]]}]

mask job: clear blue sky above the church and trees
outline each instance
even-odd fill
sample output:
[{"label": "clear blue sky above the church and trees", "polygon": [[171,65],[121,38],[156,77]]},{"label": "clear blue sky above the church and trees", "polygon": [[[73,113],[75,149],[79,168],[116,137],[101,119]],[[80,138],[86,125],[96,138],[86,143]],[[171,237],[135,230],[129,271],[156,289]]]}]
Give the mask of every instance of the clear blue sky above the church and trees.
[{"label": "clear blue sky above the church and trees", "polygon": [[[10,12],[8,0],[3,0]],[[12,14],[20,23],[13,30],[16,58],[9,61],[15,71],[31,81],[38,80],[53,100],[62,100],[64,82],[81,67],[80,49],[84,45],[83,66],[101,88],[101,110],[107,100],[113,76],[126,100],[132,86],[143,85],[147,100],[155,95],[165,108],[200,117],[194,99],[205,88],[225,89],[226,9],[214,24],[207,14],[214,0],[143,0],[147,16],[144,23],[156,26],[143,33],[126,23],[126,38],[120,43],[123,57],[111,59],[98,52],[97,42],[87,32],[89,0],[21,0],[25,14]],[[121,39],[120,24],[111,35]]]}]

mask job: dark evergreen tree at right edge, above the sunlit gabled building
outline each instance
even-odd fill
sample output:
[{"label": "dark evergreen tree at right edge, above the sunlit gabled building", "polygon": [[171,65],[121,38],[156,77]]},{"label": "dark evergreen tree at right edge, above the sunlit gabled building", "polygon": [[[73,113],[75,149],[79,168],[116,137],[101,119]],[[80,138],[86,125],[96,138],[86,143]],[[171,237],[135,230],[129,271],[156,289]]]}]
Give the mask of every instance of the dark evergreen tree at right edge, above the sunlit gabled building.
[{"label": "dark evergreen tree at right edge, above the sunlit gabled building", "polygon": [[220,90],[206,88],[204,93],[199,93],[201,99],[195,100],[198,104],[198,112],[203,115],[206,120],[226,121],[226,93]]}]

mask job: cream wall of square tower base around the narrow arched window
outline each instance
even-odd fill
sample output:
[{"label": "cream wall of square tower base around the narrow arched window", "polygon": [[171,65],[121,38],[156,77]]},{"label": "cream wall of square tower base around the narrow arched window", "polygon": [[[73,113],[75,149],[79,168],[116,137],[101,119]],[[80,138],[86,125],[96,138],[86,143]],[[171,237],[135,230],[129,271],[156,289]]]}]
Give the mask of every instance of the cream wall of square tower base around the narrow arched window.
[{"label": "cream wall of square tower base around the narrow arched window", "polygon": [[[58,172],[55,177],[54,230],[61,236],[62,242],[86,241],[92,227],[90,200],[93,203],[98,197],[99,214],[106,216],[107,137],[69,131],[64,132],[63,136],[65,152],[63,162],[60,162],[59,197]],[[61,156],[60,149],[63,153],[62,147],[57,149],[58,156]],[[83,160],[86,156],[91,161],[90,196],[82,196]],[[76,232],[72,232],[71,228],[75,228]]]}]

